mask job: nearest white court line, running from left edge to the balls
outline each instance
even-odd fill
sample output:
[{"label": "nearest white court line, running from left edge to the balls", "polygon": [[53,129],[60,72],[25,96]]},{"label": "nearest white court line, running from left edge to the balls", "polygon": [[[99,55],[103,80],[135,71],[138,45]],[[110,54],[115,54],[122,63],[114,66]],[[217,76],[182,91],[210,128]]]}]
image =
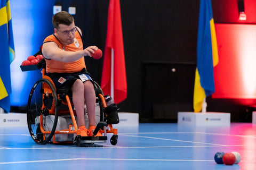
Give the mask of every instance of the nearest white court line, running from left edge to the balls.
[{"label": "nearest white court line, running from left edge to the balls", "polygon": [[24,163],[44,163],[44,162],[59,162],[68,160],[136,160],[136,161],[179,161],[179,162],[214,162],[214,160],[190,160],[190,159],[111,159],[111,158],[70,158],[70,159],[51,159],[51,160],[30,160],[30,161],[19,161],[19,162],[6,162],[3,164],[24,164]]}]

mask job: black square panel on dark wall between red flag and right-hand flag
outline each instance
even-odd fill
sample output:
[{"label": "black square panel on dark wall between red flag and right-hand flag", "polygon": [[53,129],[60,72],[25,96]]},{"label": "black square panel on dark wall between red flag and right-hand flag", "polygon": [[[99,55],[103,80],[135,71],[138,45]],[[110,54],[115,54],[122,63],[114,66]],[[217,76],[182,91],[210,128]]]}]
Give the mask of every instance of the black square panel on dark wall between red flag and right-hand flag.
[{"label": "black square panel on dark wall between red flag and right-hand flag", "polygon": [[195,63],[143,62],[141,122],[193,112]]}]

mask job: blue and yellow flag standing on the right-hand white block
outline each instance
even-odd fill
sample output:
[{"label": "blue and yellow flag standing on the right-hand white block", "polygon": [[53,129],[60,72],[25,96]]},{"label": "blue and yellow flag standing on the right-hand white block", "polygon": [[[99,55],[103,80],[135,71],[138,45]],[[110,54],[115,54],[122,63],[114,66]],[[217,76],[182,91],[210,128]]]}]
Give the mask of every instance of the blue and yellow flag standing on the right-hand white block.
[{"label": "blue and yellow flag standing on the right-hand white block", "polygon": [[204,98],[215,92],[213,67],[218,62],[218,48],[211,0],[201,0],[197,35],[194,112],[200,112]]}]

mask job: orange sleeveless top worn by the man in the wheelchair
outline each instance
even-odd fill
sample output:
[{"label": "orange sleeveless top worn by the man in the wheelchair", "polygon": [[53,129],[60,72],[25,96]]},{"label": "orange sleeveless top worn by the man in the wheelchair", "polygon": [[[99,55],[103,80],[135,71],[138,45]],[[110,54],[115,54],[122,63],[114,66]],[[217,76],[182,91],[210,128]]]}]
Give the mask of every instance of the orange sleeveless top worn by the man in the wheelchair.
[{"label": "orange sleeveless top worn by the man in the wheelchair", "polygon": [[[54,35],[48,36],[44,39],[44,43],[54,42],[60,49],[75,52],[77,50],[83,50],[83,41],[80,33],[76,31],[74,43],[69,45],[62,45],[60,41]],[[79,72],[83,68],[86,68],[84,57],[78,59],[75,62],[60,62],[56,60],[45,60],[46,61],[46,73],[74,73]]]}]

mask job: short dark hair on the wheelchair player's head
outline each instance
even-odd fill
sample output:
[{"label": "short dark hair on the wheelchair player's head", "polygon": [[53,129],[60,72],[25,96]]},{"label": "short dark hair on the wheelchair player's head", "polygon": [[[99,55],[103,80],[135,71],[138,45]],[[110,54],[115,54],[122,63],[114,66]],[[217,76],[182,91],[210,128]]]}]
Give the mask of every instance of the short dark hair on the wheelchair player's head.
[{"label": "short dark hair on the wheelchair player's head", "polygon": [[52,25],[54,28],[59,28],[59,24],[70,25],[74,21],[71,14],[66,11],[61,11],[52,16]]}]

